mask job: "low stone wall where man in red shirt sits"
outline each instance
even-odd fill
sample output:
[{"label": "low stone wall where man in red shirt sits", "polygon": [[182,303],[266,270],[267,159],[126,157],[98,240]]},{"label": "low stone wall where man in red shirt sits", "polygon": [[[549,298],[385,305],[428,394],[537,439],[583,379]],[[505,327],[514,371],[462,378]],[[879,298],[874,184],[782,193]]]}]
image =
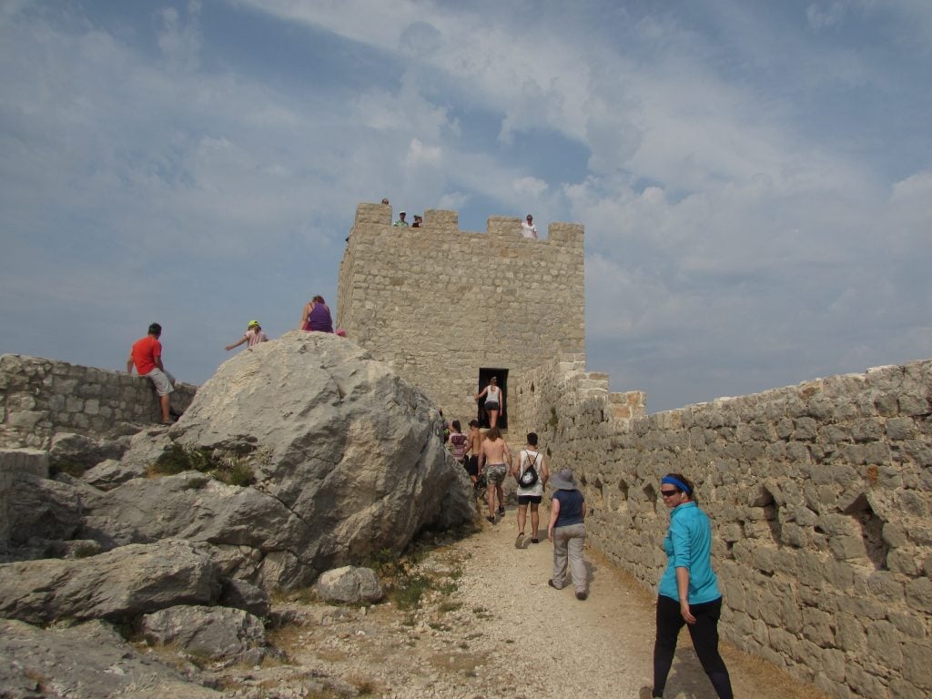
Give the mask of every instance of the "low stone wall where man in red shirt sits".
[{"label": "low stone wall where man in red shirt sits", "polygon": [[[179,385],[171,394],[172,409],[183,412],[195,391],[194,386]],[[158,396],[147,378],[0,355],[0,447],[48,450],[58,432],[106,438],[159,421]]]}]

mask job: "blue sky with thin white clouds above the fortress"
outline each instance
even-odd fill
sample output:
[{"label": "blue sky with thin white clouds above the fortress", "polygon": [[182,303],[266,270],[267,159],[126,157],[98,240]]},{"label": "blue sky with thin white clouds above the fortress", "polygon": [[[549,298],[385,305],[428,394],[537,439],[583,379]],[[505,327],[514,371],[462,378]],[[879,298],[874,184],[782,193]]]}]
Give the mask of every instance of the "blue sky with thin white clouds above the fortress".
[{"label": "blue sky with thin white clouds above the fortress", "polygon": [[927,0],[0,0],[0,352],[202,383],[388,197],[583,224],[651,413],[929,358],[930,115]]}]

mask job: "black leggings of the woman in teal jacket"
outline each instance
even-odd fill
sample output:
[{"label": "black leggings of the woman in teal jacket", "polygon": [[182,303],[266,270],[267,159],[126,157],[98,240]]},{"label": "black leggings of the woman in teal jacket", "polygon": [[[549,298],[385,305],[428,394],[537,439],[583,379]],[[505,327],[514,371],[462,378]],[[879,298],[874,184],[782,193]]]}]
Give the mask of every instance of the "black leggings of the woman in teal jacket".
[{"label": "black leggings of the woman in teal jacket", "polygon": [[[719,616],[721,597],[704,604],[691,604],[690,611],[696,618],[689,624],[692,648],[699,662],[712,680],[719,699],[733,699],[732,680],[728,668],[719,654]],[[679,613],[679,602],[663,595],[657,596],[657,640],[653,644],[653,695],[663,696],[666,676],[673,665],[673,653],[677,650],[679,629],[686,624]]]}]

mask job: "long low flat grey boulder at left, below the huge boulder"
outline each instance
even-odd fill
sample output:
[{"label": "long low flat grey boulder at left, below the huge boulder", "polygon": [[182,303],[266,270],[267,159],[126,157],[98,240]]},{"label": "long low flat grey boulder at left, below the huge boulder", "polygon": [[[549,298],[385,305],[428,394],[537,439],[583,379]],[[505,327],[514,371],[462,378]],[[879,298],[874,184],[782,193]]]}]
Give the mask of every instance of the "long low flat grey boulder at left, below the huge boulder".
[{"label": "long low flat grey boulder at left, below the huge boulder", "polygon": [[207,546],[132,544],[89,558],[0,565],[0,617],[29,624],[68,618],[130,622],[179,604],[211,604],[222,591]]}]

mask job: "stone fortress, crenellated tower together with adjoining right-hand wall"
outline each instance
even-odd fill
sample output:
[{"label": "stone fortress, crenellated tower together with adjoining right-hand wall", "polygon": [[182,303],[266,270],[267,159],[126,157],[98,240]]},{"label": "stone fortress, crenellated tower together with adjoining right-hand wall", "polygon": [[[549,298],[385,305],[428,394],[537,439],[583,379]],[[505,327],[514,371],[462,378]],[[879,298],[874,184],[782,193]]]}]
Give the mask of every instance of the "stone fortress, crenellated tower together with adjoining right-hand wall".
[{"label": "stone fortress, crenellated tower together with adjoining right-hand wall", "polygon": [[932,695],[932,361],[648,416],[586,371],[582,226],[487,227],[445,211],[391,227],[361,204],[339,324],[448,418],[499,376],[509,441],[539,432],[551,468],[574,469],[590,544],[646,587],[665,565],[659,478],[692,478],[737,648],[841,699]]}]

